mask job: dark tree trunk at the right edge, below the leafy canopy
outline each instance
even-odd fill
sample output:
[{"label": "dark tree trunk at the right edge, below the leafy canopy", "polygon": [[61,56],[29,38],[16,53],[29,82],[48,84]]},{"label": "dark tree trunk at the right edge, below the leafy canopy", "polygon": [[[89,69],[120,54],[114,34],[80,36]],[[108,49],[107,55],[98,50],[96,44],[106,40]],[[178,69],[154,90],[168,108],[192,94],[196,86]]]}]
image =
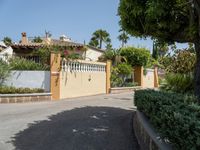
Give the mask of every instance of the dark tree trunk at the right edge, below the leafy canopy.
[{"label": "dark tree trunk at the right edge, below the leafy canopy", "polygon": [[196,51],[196,68],[194,76],[194,91],[195,95],[198,97],[198,102],[200,104],[200,42],[195,43]]}]

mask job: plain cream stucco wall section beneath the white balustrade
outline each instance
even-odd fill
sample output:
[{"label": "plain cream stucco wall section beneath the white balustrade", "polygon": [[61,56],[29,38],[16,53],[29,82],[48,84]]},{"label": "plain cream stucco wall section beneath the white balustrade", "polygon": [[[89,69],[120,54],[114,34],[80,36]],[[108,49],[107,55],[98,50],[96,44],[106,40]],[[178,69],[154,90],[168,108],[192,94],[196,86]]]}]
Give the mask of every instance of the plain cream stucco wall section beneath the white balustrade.
[{"label": "plain cream stucco wall section beneath the white balustrade", "polygon": [[60,72],[60,98],[106,93],[106,72]]}]

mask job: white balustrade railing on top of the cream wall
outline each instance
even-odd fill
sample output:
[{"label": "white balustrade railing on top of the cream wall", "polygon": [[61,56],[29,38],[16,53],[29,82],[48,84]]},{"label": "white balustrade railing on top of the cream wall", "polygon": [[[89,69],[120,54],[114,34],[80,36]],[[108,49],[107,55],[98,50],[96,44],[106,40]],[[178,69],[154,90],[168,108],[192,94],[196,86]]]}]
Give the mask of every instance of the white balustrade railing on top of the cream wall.
[{"label": "white balustrade railing on top of the cream wall", "polygon": [[68,61],[62,60],[62,71],[65,72],[105,72],[106,64],[104,63],[91,63],[86,61]]}]

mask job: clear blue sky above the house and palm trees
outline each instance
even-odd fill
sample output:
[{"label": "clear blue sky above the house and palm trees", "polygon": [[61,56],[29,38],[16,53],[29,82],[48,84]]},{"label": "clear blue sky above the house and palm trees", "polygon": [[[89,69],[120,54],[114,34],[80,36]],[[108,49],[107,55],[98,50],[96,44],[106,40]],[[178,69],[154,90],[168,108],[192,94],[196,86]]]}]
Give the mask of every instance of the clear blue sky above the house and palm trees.
[{"label": "clear blue sky above the house and palm trees", "polygon": [[[83,43],[95,30],[104,29],[118,48],[118,4],[119,0],[0,0],[0,40],[8,36],[18,42],[21,32],[34,37],[47,30],[53,38],[65,34]],[[131,38],[128,45],[152,49],[150,39]]]}]

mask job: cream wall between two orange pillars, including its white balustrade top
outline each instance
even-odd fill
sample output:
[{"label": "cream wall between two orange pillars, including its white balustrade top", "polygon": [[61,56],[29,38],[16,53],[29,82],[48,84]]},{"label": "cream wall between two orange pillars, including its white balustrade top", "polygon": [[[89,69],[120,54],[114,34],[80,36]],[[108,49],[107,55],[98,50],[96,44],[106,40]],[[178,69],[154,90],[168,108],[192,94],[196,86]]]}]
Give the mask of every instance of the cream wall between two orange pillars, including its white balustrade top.
[{"label": "cream wall between two orange pillars, including its white balustrade top", "polygon": [[106,63],[63,61],[60,72],[60,98],[106,93]]}]

